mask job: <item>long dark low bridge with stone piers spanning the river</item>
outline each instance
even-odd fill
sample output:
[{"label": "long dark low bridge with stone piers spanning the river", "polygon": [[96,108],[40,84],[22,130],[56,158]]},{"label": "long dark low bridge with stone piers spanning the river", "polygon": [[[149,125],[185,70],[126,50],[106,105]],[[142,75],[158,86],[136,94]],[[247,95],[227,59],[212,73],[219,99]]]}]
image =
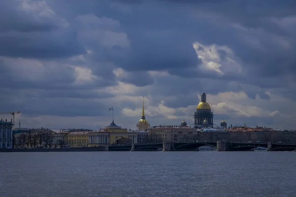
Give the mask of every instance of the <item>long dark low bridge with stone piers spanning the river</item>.
[{"label": "long dark low bridge with stone piers spanning the river", "polygon": [[270,142],[224,142],[224,141],[185,141],[157,142],[145,144],[109,145],[109,151],[195,151],[201,146],[216,146],[220,151],[249,151],[257,147],[268,148],[269,151],[293,151],[296,144]]}]

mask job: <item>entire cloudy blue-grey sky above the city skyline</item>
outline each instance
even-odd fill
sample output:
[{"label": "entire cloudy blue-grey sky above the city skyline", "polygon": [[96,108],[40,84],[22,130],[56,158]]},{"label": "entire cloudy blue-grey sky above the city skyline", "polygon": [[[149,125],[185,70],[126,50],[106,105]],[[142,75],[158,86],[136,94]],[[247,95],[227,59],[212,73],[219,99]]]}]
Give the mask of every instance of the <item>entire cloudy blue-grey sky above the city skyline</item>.
[{"label": "entire cloudy blue-grey sky above the city skyline", "polygon": [[[295,0],[1,0],[0,118],[22,128],[296,129]],[[6,114],[5,114],[6,113]]]}]

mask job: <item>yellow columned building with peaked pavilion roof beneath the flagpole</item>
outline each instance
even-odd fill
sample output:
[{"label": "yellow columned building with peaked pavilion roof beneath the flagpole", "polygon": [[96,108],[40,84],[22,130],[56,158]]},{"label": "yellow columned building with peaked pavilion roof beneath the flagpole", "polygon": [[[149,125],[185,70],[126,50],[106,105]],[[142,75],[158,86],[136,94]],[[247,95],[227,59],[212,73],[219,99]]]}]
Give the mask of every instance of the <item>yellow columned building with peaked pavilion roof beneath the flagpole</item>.
[{"label": "yellow columned building with peaked pavilion roof beneath the flagpole", "polygon": [[88,140],[89,147],[106,146],[110,144],[136,144],[138,141],[138,132],[122,129],[112,121],[105,129],[89,132]]}]

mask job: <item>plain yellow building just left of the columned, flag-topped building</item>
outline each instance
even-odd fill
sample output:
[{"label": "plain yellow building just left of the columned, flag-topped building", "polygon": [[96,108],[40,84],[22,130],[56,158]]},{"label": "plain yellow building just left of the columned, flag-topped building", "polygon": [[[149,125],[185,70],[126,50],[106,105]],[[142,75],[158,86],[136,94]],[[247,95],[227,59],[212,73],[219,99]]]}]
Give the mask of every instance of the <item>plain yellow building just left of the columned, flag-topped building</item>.
[{"label": "plain yellow building just left of the columned, flag-topped building", "polygon": [[71,148],[88,146],[88,131],[74,131],[65,135],[65,142]]}]

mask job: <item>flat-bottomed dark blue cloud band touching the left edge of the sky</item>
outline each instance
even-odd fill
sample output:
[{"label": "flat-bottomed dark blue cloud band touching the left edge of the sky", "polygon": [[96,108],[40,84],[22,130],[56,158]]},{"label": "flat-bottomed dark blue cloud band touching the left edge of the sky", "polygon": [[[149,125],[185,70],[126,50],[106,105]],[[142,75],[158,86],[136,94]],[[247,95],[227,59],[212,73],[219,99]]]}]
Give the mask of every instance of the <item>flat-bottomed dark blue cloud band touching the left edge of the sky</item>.
[{"label": "flat-bottomed dark blue cloud band touching the left edge of the sky", "polygon": [[75,33],[0,33],[0,55],[24,58],[64,58],[84,54]]}]

